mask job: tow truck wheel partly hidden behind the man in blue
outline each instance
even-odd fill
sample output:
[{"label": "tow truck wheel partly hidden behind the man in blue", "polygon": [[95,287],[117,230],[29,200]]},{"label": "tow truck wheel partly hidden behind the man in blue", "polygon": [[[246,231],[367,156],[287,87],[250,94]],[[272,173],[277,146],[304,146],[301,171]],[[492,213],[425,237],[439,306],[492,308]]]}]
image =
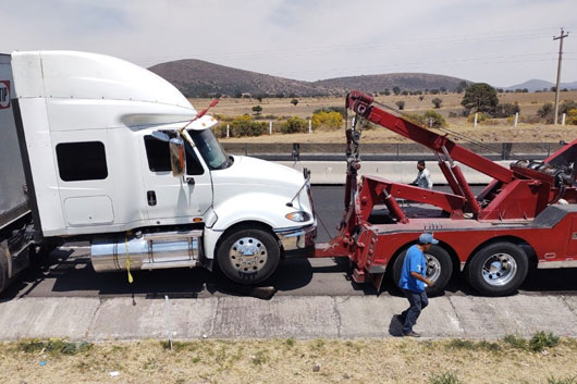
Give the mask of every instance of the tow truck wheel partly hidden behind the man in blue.
[{"label": "tow truck wheel partly hidden behind the man in blue", "polygon": [[[395,286],[398,285],[407,250],[408,248],[401,252],[393,264]],[[426,290],[427,295],[434,296],[442,293],[451,280],[451,275],[453,274],[453,260],[446,250],[434,245],[431,246],[429,251],[425,252],[425,256],[427,258],[427,278],[434,281],[434,285],[432,287],[427,287]]]}]

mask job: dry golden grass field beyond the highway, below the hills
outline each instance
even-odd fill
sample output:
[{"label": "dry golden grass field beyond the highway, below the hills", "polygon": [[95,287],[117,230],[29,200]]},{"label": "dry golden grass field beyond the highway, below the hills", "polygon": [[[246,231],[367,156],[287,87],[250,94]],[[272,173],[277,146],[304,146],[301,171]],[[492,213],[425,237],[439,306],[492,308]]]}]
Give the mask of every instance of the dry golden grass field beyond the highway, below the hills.
[{"label": "dry golden grass field beyond the highway, below the hills", "polygon": [[[577,91],[568,91],[561,94],[561,100],[577,100]],[[445,117],[450,112],[457,112],[462,109],[461,100],[463,95],[426,95],[423,100],[419,100],[418,96],[379,96],[378,101],[388,106],[394,106],[397,100],[404,100],[406,112],[423,112],[432,109],[431,100],[435,97],[443,99],[443,106],[438,110]],[[521,115],[533,115],[537,110],[545,102],[554,101],[553,92],[538,92],[538,94],[500,94],[500,102],[518,102],[521,109]],[[207,106],[209,99],[191,99],[191,102],[197,108],[201,109]],[[259,102],[256,99],[234,99],[228,98],[211,111],[211,113],[236,116],[244,113],[251,114],[251,108],[255,106],[262,107],[262,116],[272,115],[267,119],[275,121],[274,124],[280,124],[278,119],[286,119],[288,116],[307,117],[312,115],[312,112],[320,108],[327,107],[343,107],[344,97],[319,97],[319,98],[299,98],[298,104],[295,107],[291,104],[291,98],[266,98]],[[472,124],[467,123],[462,117],[451,117],[447,120],[449,128],[475,140],[484,143],[557,143],[558,140],[573,140],[577,137],[577,126],[553,126],[545,124],[519,124],[517,128],[511,126],[506,120],[494,121],[498,125],[479,125],[477,128]],[[292,134],[281,135],[273,134],[272,136],[263,135],[261,137],[243,137],[222,139],[224,143],[344,143],[345,136],[342,129],[339,131],[320,131],[314,134]],[[363,143],[408,143],[409,140],[395,135],[388,129],[372,129],[363,134]],[[458,141],[458,140],[457,140]]]}]

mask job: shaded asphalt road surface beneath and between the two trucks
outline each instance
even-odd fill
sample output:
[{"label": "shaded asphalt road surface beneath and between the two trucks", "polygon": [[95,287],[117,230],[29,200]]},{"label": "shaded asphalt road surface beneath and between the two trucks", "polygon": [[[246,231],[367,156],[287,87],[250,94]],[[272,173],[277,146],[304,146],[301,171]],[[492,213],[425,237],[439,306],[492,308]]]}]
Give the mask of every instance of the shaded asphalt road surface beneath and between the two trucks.
[{"label": "shaded asphalt road surface beneath and between the two trucks", "polygon": [[[478,190],[475,190],[478,191]],[[335,225],[343,213],[343,186],[314,186],[315,209],[319,218],[319,241],[336,234]],[[89,262],[88,244],[65,244],[49,257],[35,263],[4,292],[0,299],[20,297],[146,297],[173,298],[211,296],[262,296],[274,290],[287,296],[375,296],[368,284],[351,280],[346,259],[284,260],[278,272],[261,288],[240,287],[220,272],[204,269],[177,269],[133,272],[95,273]],[[521,293],[577,294],[576,269],[531,271]],[[270,287],[270,288],[269,288]],[[386,286],[382,295],[398,295]],[[445,295],[475,295],[461,276],[454,276]]]}]

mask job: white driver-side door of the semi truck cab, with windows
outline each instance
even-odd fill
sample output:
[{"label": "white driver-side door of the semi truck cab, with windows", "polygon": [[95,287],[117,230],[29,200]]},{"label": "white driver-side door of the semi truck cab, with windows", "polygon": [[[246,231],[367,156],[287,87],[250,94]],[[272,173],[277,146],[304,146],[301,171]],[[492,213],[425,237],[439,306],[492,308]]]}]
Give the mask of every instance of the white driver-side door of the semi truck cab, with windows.
[{"label": "white driver-side door of the semi truck cab, with windows", "polygon": [[210,171],[188,143],[186,177],[174,177],[169,144],[145,134],[142,138],[142,164],[150,225],[188,224],[212,206]]}]

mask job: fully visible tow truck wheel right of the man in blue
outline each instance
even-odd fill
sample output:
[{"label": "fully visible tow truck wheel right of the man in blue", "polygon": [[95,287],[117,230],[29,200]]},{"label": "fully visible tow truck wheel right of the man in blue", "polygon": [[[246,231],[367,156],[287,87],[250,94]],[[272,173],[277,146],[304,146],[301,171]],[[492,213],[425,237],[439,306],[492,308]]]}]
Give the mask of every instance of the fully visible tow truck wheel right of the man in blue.
[{"label": "fully visible tow truck wheel right of the man in blue", "polygon": [[529,261],[516,244],[501,241],[479,249],[465,267],[465,278],[482,295],[511,295],[523,284]]}]

